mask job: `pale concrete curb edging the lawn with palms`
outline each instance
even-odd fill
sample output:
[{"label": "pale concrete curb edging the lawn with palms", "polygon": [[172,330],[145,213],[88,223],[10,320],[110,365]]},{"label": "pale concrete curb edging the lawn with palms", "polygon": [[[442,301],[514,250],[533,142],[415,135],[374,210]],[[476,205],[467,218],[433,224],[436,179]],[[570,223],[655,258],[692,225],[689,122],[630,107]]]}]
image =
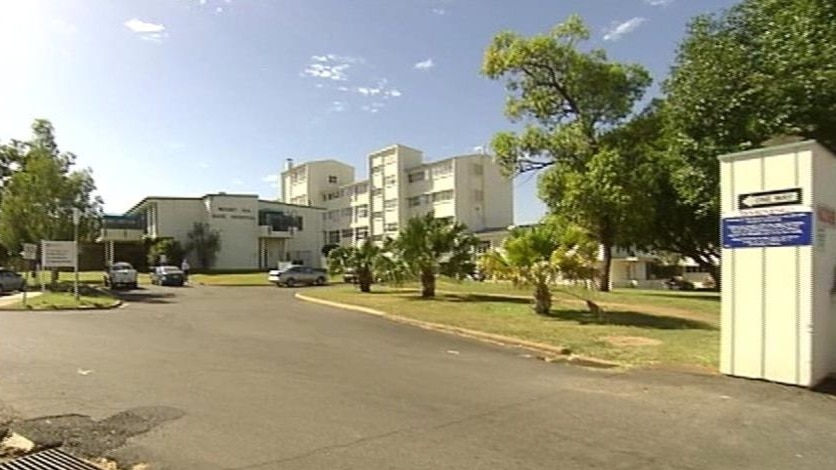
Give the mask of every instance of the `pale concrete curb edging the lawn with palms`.
[{"label": "pale concrete curb edging the lawn with palms", "polygon": [[510,336],[504,335],[497,335],[493,333],[485,333],[484,331],[477,331],[477,330],[470,330],[467,328],[459,328],[455,326],[449,325],[442,325],[440,323],[433,323],[427,322],[422,320],[415,320],[412,318],[401,317],[398,315],[392,315],[390,313],[382,312],[380,310],[375,310],[373,308],[368,307],[361,307],[358,305],[351,305],[351,304],[344,304],[341,302],[333,302],[330,300],[323,300],[317,299],[315,297],[309,297],[304,294],[296,293],[294,297],[297,300],[301,300],[303,302],[310,302],[319,305],[324,305],[327,307],[339,308],[342,310],[351,310],[354,312],[361,312],[368,315],[374,315],[377,317],[382,317],[390,321],[395,321],[398,323],[403,323],[411,326],[417,326],[419,328],[423,328],[425,330],[432,330],[438,331],[442,333],[452,334],[456,336],[461,336],[464,338],[475,339],[478,341],[482,341],[484,343],[495,344],[504,347],[517,347],[526,349],[532,352],[539,353],[541,355],[540,359],[545,360],[546,362],[563,362],[568,364],[576,364],[582,365],[586,367],[594,367],[599,369],[614,369],[614,368],[624,368],[626,367],[624,364],[620,364],[617,362],[610,362],[604,361],[600,359],[594,359],[589,357],[577,356],[573,355],[571,351],[567,348],[561,348],[558,346],[552,346],[550,344],[543,344],[537,343],[534,341],[527,341],[524,339],[513,338]]}]

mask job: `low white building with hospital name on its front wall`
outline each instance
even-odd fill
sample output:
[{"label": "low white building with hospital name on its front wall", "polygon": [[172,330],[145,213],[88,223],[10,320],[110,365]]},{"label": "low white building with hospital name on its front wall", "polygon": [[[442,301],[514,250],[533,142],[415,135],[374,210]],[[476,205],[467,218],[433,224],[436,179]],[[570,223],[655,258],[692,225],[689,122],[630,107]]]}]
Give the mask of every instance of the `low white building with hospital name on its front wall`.
[{"label": "low white building with hospital name on its front wall", "polygon": [[[212,269],[269,269],[293,261],[321,267],[322,214],[313,206],[261,200],[250,194],[207,194],[201,197],[147,197],[126,216],[145,221],[144,235],[173,238],[182,244],[195,223],[220,235]],[[196,260],[190,259],[193,267]]]}]

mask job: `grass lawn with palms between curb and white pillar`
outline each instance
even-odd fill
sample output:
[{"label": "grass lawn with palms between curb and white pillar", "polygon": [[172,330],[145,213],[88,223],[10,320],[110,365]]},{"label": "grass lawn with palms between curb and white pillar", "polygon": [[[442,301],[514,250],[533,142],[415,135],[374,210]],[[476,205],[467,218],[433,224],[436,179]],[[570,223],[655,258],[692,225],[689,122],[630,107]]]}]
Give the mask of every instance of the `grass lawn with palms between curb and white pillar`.
[{"label": "grass lawn with palms between curb and white pillar", "polygon": [[[531,311],[528,299],[462,292],[424,300],[414,292],[377,286],[373,290],[371,294],[360,294],[353,286],[343,285],[310,289],[304,294],[407,318],[566,347],[574,354],[625,365],[716,369],[719,362],[720,332],[715,324],[648,313],[638,299],[648,298],[652,302],[655,298],[650,295],[630,297],[634,302],[631,308],[606,309],[607,321],[599,323],[585,308],[560,299],[556,299],[552,315],[545,317]],[[658,305],[654,310],[658,310]],[[694,316],[700,315],[694,312]],[[702,316],[711,318],[711,314]]]}]

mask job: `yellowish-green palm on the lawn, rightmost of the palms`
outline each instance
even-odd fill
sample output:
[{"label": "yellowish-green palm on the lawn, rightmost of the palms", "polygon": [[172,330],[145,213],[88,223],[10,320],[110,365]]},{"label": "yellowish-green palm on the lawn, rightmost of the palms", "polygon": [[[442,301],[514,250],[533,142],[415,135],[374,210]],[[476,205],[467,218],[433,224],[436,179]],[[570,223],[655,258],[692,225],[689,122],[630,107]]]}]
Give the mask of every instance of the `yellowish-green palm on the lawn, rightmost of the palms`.
[{"label": "yellowish-green palm on the lawn, rightmost of the palms", "polygon": [[491,251],[479,260],[480,269],[515,286],[533,286],[534,311],[548,315],[552,308],[551,281],[559,270],[552,256],[560,240],[550,226],[538,225],[511,231],[501,251]]}]

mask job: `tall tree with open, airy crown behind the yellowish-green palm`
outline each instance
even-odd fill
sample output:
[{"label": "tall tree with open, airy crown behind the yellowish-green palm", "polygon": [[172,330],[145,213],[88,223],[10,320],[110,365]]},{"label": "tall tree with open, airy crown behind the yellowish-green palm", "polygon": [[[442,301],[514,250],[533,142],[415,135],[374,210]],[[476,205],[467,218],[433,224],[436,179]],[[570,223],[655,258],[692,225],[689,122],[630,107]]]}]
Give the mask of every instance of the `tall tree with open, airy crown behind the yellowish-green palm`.
[{"label": "tall tree with open, airy crown behind the yellowish-green palm", "polygon": [[493,138],[499,163],[511,175],[545,170],[541,198],[601,243],[600,288],[609,290],[612,248],[630,243],[624,230],[644,225],[647,215],[642,168],[649,162],[624,151],[620,129],[651,79],[639,65],[582,50],[588,39],[578,16],[531,38],[503,32],[488,47],[482,73],[505,81],[506,114],[524,123],[521,132]]}]

